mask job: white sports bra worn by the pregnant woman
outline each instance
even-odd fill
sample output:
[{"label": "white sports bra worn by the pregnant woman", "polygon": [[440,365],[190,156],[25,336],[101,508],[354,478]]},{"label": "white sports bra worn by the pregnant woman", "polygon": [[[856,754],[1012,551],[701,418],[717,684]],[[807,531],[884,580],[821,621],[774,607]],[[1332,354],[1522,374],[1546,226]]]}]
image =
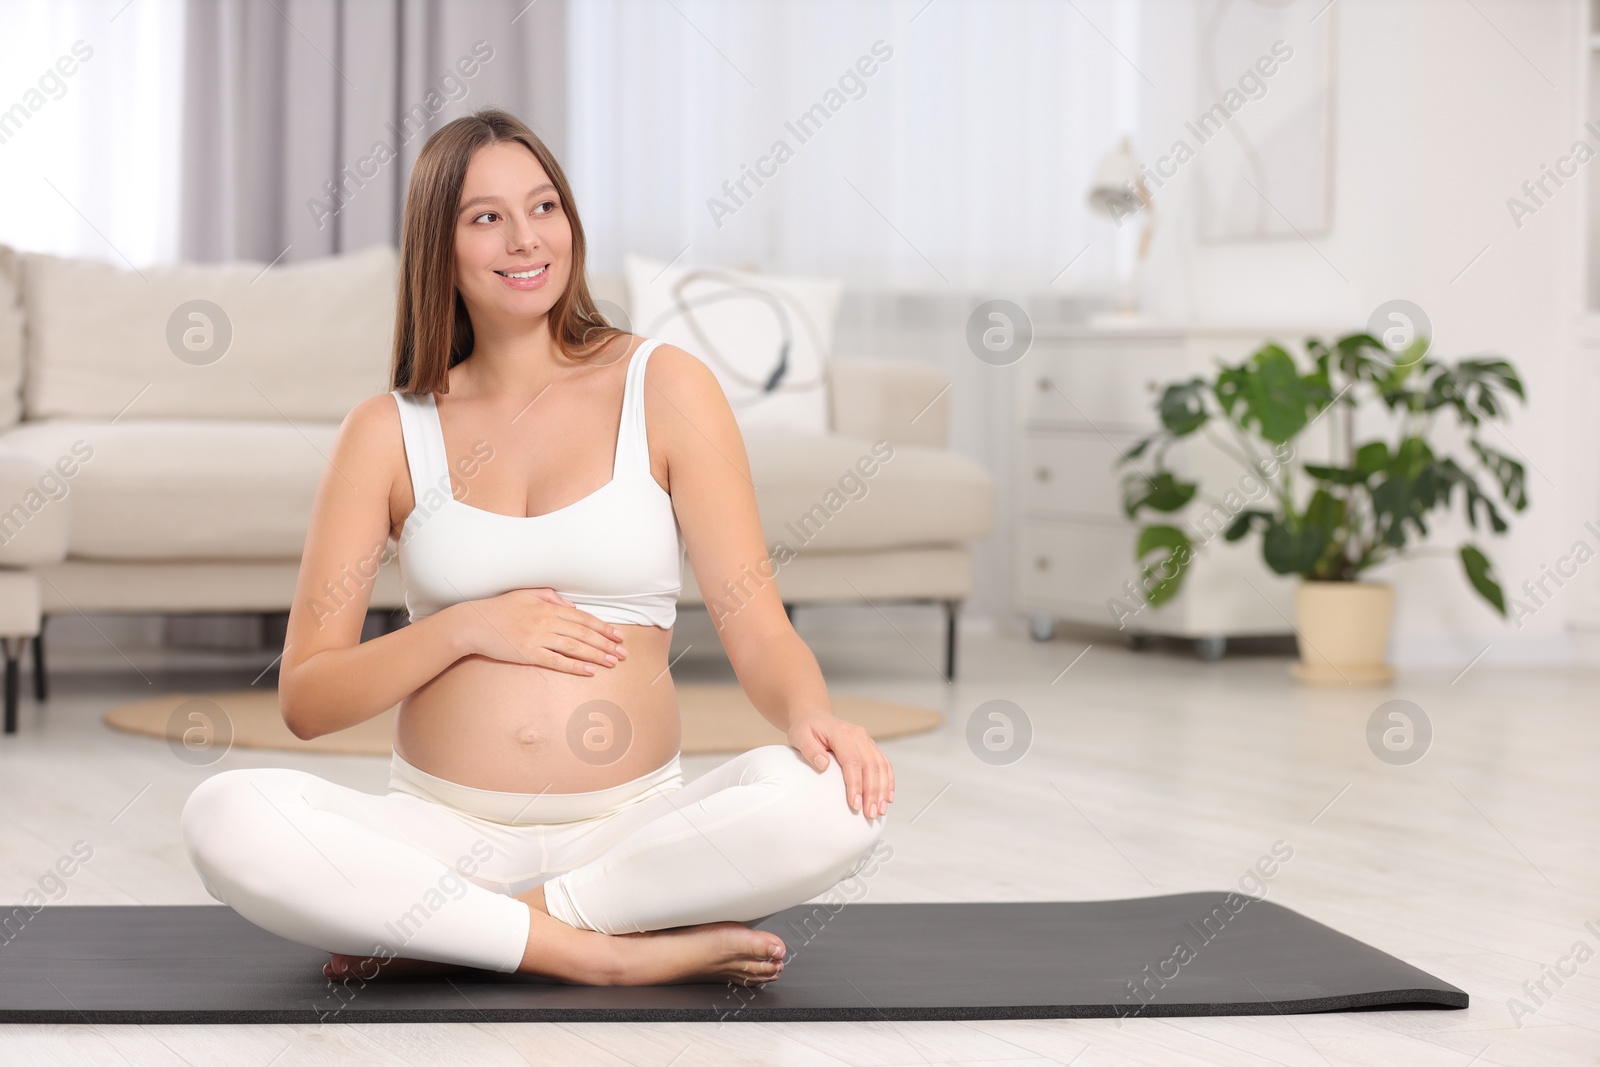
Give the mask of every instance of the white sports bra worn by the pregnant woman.
[{"label": "white sports bra worn by the pregnant woman", "polygon": [[458,501],[434,394],[392,390],[416,494],[398,553],[413,622],[462,600],[549,585],[605,622],[674,624],[683,531],[672,498],[650,474],[645,437],[645,362],[658,344],[646,339],[629,362],[611,480],[544,515],[501,515]]}]

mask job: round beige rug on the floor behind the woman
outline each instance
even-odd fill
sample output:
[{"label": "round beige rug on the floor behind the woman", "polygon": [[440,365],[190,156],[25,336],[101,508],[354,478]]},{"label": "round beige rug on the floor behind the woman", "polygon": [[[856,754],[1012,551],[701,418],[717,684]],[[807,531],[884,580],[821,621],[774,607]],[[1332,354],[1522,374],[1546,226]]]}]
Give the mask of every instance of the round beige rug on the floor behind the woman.
[{"label": "round beige rug on the floor behind the woman", "polygon": [[[704,752],[747,752],[760,745],[784,744],[784,734],[762,718],[736,685],[677,685],[683,715],[685,755]],[[944,715],[926,707],[877,701],[864,696],[830,694],[834,713],[867,728],[875,739],[899,737],[934,729]],[[200,701],[189,709],[181,705]],[[283,725],[277,689],[222,689],[213,693],[168,693],[149,701],[118,704],[106,712],[106,723],[117,729],[197,745],[230,744],[246,749],[286,749],[290,752],[333,752],[341,755],[389,755],[394,749],[395,713],[387,712],[349,729],[301,741]]]}]

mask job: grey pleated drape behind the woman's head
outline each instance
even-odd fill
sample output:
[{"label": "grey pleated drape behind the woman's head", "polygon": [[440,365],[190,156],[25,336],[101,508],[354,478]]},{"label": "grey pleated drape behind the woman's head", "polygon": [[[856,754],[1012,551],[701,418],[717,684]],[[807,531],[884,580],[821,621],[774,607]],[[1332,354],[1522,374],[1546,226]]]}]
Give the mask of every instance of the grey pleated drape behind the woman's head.
[{"label": "grey pleated drape behind the woman's head", "polygon": [[[141,3],[146,0],[141,0]],[[187,0],[181,248],[400,243],[411,163],[490,104],[563,150],[563,0]]]}]

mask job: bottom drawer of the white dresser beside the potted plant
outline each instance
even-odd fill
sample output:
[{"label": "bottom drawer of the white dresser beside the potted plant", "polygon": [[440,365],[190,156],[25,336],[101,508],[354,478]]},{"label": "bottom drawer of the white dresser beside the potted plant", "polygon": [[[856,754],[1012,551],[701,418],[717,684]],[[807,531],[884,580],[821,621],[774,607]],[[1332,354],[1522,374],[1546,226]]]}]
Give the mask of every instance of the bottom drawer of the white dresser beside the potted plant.
[{"label": "bottom drawer of the white dresser beside the potted plant", "polygon": [[1056,605],[1091,605],[1117,625],[1106,601],[1117,597],[1130,606],[1123,582],[1139,587],[1142,571],[1133,558],[1136,531],[1131,525],[1099,525],[1024,520],[1016,541],[1016,592],[1024,609]]}]

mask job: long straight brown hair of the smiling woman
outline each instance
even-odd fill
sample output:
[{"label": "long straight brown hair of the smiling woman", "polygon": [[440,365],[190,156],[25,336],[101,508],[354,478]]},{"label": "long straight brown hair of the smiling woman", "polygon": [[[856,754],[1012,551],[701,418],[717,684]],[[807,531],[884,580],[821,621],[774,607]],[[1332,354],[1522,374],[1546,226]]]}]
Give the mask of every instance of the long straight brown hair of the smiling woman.
[{"label": "long straight brown hair of the smiling woman", "polygon": [[450,392],[450,368],[472,355],[472,318],[456,290],[456,205],[472,154],[485,144],[520,141],[550,176],[573,227],[573,272],[550,307],[550,336],[573,360],[594,357],[626,334],[606,323],[589,293],[587,245],[571,186],[555,155],[520,118],[483,107],[445,123],[427,139],[411,168],[400,238],[394,355],[389,387],[405,394]]}]

